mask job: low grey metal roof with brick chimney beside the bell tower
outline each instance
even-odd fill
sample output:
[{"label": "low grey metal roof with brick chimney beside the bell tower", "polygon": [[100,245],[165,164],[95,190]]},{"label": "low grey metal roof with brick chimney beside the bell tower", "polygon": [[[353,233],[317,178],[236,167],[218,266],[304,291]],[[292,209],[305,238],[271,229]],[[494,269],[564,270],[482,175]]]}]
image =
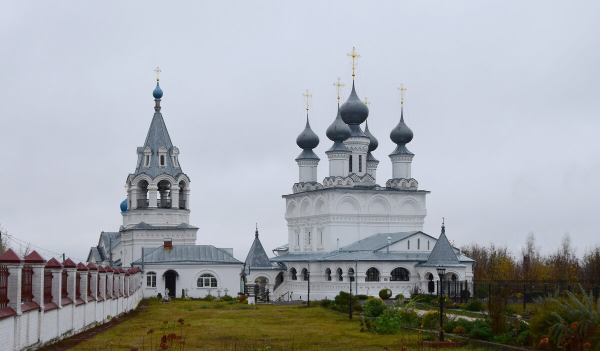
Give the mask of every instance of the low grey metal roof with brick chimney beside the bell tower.
[{"label": "low grey metal roof with brick chimney beside the bell tower", "polygon": [[[171,249],[165,249],[163,245],[158,248],[145,248],[142,251],[144,264],[242,264],[226,251],[212,245],[173,245]],[[142,264],[142,258],[131,264]]]}]

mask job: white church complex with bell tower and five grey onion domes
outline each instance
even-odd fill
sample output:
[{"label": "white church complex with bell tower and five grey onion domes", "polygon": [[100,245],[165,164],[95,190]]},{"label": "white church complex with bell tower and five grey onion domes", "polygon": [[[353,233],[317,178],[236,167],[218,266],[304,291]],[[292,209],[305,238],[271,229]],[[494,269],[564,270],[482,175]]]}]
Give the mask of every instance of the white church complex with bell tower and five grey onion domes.
[{"label": "white church complex with bell tower and five grey onion domes", "polygon": [[246,291],[260,289],[271,299],[305,300],[309,290],[311,300],[331,299],[349,291],[350,284],[359,294],[376,296],[389,288],[393,295],[407,296],[411,289],[435,288],[430,281],[437,280],[440,264],[446,267],[445,279],[472,278],[473,260],[450,245],[443,224],[439,236],[422,231],[429,192],[412,177],[415,155],[406,144],[413,132],[403,112],[390,133],[397,147],[389,154],[392,174],[385,186],[377,185],[379,161],[373,151],[378,141],[368,130],[368,106],[354,84],[341,105],[338,94],[337,116],[326,130],[332,146],[325,152],[329,175],[322,182],[317,181],[320,159],[313,152],[319,137],[307,118],[296,139],[302,149],[296,157],[299,180],[292,194],[283,195],[287,243],[272,249],[269,258],[256,230],[242,262],[231,248],[196,245],[190,179],[164,124],[158,79],[153,95],[154,117],[144,145],[137,148],[135,171],[127,177],[123,224],[118,232],[102,232],[88,256],[96,264],[142,269],[144,296],[167,290],[177,297],[235,296],[244,288],[242,281]]}]

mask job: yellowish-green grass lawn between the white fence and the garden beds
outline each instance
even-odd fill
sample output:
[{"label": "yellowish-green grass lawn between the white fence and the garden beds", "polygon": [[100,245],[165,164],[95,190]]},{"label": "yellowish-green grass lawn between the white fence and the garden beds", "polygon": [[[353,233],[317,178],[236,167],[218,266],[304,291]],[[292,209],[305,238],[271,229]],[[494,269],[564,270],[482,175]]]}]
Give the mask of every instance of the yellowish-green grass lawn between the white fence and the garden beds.
[{"label": "yellowish-green grass lawn between the white fence and the garden beds", "polygon": [[[299,306],[250,307],[236,302],[179,301],[162,304],[142,301],[145,311],[74,347],[77,350],[130,350],[149,337],[157,341],[164,320],[184,319],[185,350],[404,350],[422,349],[416,332],[397,335],[360,332],[360,320],[321,307]],[[189,327],[187,325],[190,324]],[[154,334],[147,334],[154,329]],[[172,329],[164,330],[169,334]],[[176,350],[179,347],[175,348]],[[464,349],[476,350],[469,347]],[[463,350],[464,350],[463,349]]]}]

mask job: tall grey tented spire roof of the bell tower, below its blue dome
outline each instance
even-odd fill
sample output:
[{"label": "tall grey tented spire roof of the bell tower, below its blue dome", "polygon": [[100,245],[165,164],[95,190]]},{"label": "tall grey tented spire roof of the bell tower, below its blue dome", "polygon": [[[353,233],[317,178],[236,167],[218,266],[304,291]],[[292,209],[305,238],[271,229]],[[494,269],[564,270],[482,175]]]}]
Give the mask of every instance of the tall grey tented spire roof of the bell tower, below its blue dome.
[{"label": "tall grey tented spire roof of the bell tower, below its blue dome", "polygon": [[[160,102],[160,100],[158,100]],[[160,112],[160,106],[155,108],[154,116],[152,117],[152,122],[150,123],[150,128],[148,129],[148,135],[146,135],[146,141],[142,147],[137,148],[138,153],[146,147],[149,147],[152,150],[152,157],[150,157],[150,166],[144,167],[142,165],[138,165],[134,175],[138,174],[148,174],[152,179],[154,179],[159,174],[170,174],[175,179],[182,174],[181,165],[179,167],[175,167],[173,165],[173,159],[170,157],[170,151],[173,150],[173,143],[171,142],[171,138],[169,136],[169,132],[167,131],[167,126],[164,124],[163,114]],[[167,150],[167,157],[165,157],[166,166],[158,166],[158,149],[161,146],[164,146]],[[140,162],[143,162],[143,157]]]}]

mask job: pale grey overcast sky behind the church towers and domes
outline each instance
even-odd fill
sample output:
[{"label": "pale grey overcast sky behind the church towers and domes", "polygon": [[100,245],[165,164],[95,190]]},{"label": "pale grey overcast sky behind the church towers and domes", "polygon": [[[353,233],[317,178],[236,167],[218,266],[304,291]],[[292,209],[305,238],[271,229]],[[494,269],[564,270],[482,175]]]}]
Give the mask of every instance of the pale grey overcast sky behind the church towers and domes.
[{"label": "pale grey overcast sky behind the church towers and domes", "polygon": [[[346,53],[361,54],[359,96],[391,177],[397,87],[415,133],[413,177],[425,232],[505,243],[528,231],[544,251],[569,231],[596,242],[600,186],[600,2],[26,2],[0,13],[0,224],[86,258],[117,231],[125,179],[154,112],[191,180],[199,244],[244,259],[254,223],[266,249],[287,242],[284,200],[298,181],[302,92],[321,142],[349,94]],[[270,252],[269,252],[270,253]],[[46,255],[49,257],[49,255]]]}]

